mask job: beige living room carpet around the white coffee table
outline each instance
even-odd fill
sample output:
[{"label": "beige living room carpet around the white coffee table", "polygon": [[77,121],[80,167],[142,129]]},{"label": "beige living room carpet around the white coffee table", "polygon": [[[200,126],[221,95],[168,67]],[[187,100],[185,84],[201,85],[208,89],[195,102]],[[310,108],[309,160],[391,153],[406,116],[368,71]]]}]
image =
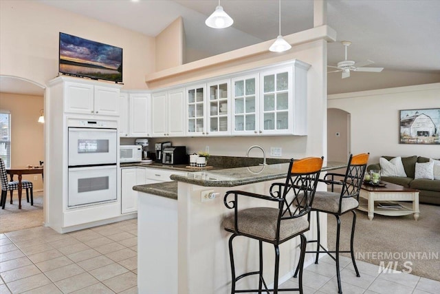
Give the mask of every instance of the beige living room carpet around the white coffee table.
[{"label": "beige living room carpet around the white coffee table", "polygon": [[[440,281],[440,206],[420,204],[420,217],[356,211],[355,259]],[[350,246],[352,213],[341,216],[340,249]],[[336,218],[329,215],[328,244],[335,250]],[[349,253],[343,253],[349,256]]]}]

